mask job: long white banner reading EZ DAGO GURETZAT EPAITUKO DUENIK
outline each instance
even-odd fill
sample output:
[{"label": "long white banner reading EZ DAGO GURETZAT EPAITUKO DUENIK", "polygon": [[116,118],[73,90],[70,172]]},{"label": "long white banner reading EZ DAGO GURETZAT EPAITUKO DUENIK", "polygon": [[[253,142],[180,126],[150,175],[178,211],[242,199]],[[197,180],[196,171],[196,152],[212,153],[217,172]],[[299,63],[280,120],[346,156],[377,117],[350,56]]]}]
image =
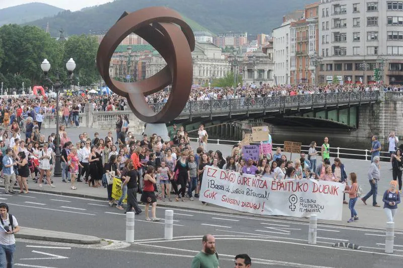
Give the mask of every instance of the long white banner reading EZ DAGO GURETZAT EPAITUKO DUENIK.
[{"label": "long white banner reading EZ DAGO GURETZAT EPAITUKO DUENIK", "polygon": [[260,215],[342,220],[343,190],[339,182],[309,179],[273,180],[206,166],[199,200]]}]

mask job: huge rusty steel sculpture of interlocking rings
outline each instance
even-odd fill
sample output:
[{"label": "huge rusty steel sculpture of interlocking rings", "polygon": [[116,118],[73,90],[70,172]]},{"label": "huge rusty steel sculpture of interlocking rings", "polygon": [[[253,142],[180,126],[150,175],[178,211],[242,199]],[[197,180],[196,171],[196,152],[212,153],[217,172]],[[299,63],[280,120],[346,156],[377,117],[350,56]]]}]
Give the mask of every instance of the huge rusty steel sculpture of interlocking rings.
[{"label": "huge rusty steel sculpture of interlocking rings", "polygon": [[[156,75],[134,83],[123,83],[109,75],[113,52],[130,33],[152,45],[167,65]],[[105,84],[116,94],[126,97],[135,115],[147,123],[166,123],[175,119],[186,105],[192,85],[194,35],[179,13],[164,7],[152,7],[123,13],[102,39],[97,53],[97,67]],[[164,108],[155,113],[145,96],[172,84]]]}]

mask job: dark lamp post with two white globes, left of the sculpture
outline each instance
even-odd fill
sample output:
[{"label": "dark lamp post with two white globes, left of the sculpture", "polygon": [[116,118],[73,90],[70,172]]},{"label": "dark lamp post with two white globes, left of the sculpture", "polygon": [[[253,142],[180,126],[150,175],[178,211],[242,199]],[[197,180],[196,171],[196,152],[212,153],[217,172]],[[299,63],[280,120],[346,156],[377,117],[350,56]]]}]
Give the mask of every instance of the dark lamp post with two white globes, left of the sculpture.
[{"label": "dark lamp post with two white globes, left of the sculpture", "polygon": [[46,80],[54,87],[56,90],[56,145],[55,145],[55,162],[54,163],[54,176],[55,177],[60,177],[61,176],[61,165],[60,165],[60,135],[59,135],[59,90],[63,87],[64,83],[66,81],[70,81],[73,78],[73,71],[76,69],[76,62],[74,62],[73,58],[70,58],[70,60],[66,63],[66,69],[69,73],[69,77],[66,81],[61,82],[59,80],[59,73],[56,73],[56,83],[53,83],[48,77],[47,74],[49,73],[50,70],[50,63],[49,61],[45,58],[42,61],[41,64],[41,69],[43,74],[46,76]]}]

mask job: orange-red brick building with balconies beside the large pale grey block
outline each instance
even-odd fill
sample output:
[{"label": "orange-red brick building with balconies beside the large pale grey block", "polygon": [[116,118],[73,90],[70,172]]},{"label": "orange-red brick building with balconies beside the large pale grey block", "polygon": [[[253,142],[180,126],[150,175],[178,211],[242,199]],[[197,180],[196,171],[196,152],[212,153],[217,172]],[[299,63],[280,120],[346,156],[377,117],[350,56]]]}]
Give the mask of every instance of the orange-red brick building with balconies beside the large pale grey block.
[{"label": "orange-red brick building with balconies beside the large pale grey block", "polygon": [[314,84],[315,66],[312,57],[318,50],[318,6],[305,6],[304,18],[290,25],[290,83]]}]

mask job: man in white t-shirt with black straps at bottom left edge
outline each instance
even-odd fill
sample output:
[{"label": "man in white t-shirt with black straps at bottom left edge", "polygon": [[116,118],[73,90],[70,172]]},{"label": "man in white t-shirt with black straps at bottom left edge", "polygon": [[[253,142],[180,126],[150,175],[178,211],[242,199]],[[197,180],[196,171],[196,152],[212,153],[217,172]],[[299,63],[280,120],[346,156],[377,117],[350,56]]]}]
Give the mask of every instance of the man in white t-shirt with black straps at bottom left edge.
[{"label": "man in white t-shirt with black straps at bottom left edge", "polygon": [[13,267],[13,254],[16,249],[15,233],[20,231],[16,217],[9,214],[9,206],[0,204],[0,267]]}]

